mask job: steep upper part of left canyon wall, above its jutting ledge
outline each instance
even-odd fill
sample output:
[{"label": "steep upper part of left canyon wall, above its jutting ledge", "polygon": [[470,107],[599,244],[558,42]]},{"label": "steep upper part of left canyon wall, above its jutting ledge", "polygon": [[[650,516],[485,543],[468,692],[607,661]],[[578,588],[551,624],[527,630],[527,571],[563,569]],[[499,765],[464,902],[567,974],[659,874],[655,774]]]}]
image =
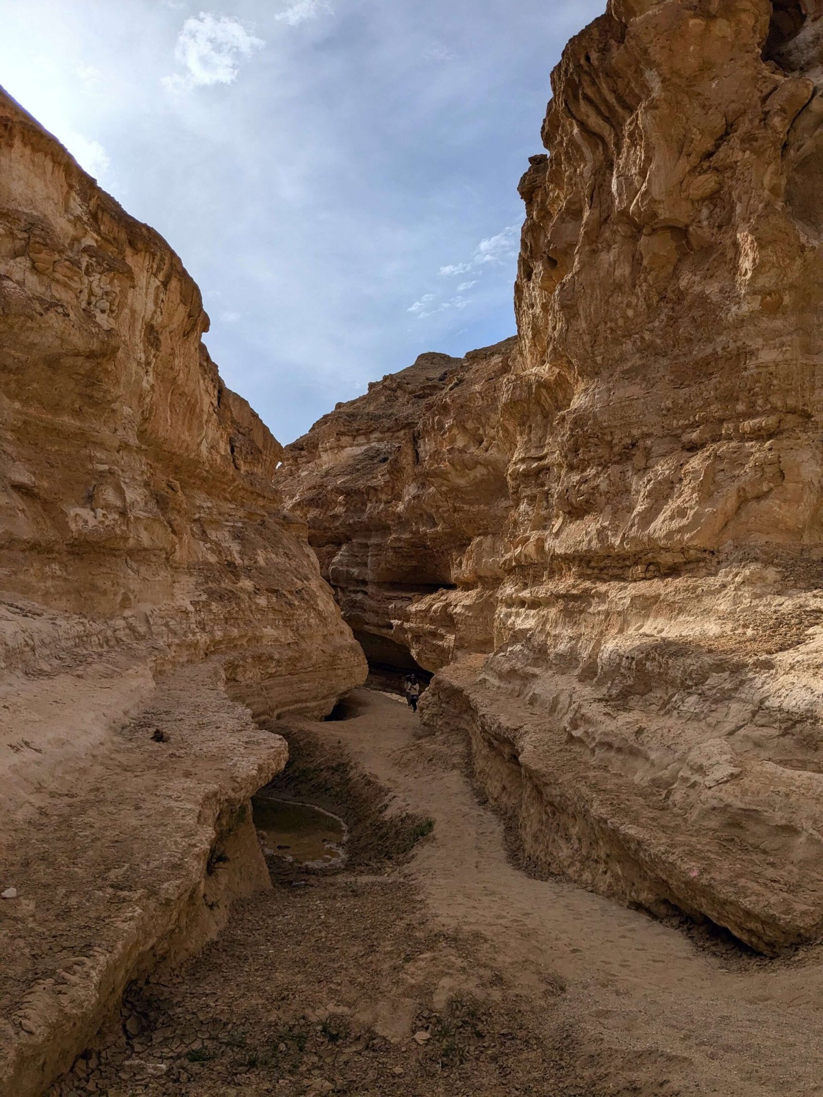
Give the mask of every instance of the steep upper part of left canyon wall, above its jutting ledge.
[{"label": "steep upper part of left canyon wall, above its jutting ledge", "polygon": [[0,584],[93,620],[64,651],[243,649],[258,677],[268,660],[279,710],[330,706],[361,656],[271,487],[280,445],[201,342],[198,287],[16,104],[0,110]]}]

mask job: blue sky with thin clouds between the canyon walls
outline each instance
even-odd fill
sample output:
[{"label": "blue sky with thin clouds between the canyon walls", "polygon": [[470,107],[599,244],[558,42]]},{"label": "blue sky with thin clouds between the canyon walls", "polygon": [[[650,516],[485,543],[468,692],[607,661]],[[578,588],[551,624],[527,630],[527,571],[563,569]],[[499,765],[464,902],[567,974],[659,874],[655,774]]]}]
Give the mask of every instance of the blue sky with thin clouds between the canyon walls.
[{"label": "blue sky with thin clouds between the canyon walls", "polygon": [[549,77],[605,0],[0,0],[0,83],[203,291],[283,442],[514,332]]}]

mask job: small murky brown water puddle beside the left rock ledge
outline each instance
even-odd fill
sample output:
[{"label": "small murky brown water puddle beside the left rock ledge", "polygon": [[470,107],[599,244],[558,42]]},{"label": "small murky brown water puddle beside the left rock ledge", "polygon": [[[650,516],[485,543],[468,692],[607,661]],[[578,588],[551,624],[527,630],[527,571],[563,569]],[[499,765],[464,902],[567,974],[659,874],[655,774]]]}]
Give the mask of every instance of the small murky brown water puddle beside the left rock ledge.
[{"label": "small murky brown water puddle beside the left rock ledge", "polygon": [[348,829],[337,815],[314,804],[275,796],[251,799],[255,826],[267,857],[307,869],[329,869],[346,860]]}]

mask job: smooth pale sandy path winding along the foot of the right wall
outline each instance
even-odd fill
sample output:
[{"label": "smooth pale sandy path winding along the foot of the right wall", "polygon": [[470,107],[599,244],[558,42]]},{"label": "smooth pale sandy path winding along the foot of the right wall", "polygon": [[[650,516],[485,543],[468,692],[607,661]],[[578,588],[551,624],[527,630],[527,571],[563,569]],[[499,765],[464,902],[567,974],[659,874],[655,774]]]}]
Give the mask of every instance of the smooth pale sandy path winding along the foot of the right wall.
[{"label": "smooth pale sandy path winding along the foot of the right wall", "polygon": [[345,725],[346,740],[364,769],[435,819],[437,840],[420,849],[412,872],[442,926],[483,934],[521,985],[553,968],[595,1044],[672,1056],[685,1093],[823,1094],[818,950],[788,964],[724,963],[643,914],[563,881],[528,878],[506,857],[500,822],[456,768],[456,745],[440,736],[409,743],[414,717],[393,704],[370,700]]}]

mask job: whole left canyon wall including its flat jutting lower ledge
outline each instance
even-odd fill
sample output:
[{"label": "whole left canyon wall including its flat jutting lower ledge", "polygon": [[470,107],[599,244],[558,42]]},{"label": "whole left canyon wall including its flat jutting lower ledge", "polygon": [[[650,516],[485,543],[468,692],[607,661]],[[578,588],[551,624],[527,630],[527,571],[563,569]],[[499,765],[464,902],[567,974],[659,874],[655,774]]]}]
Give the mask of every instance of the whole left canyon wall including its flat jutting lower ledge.
[{"label": "whole left canyon wall including its flat jutting lower ledge", "polygon": [[[18,892],[0,911],[0,1092],[15,1097],[70,1066],[127,980],[268,880],[243,805],[285,746],[249,708],[322,714],[365,675],[271,486],[281,448],[221,382],[207,325],[168,245],[0,92],[0,890]],[[210,883],[217,847],[234,863]]]}]

